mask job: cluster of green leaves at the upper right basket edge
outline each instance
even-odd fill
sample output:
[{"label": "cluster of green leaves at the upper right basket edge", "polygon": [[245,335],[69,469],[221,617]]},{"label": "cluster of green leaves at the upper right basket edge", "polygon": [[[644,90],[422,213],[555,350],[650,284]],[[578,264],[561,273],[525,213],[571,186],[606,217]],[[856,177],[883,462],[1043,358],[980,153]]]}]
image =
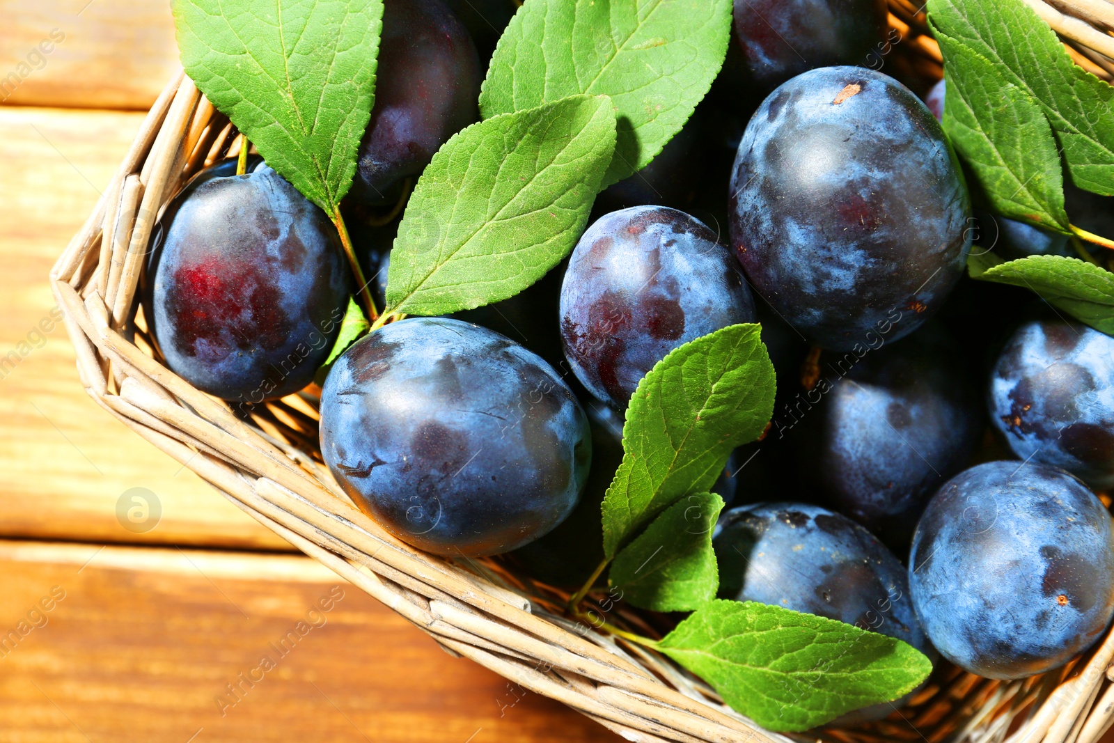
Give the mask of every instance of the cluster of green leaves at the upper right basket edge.
[{"label": "cluster of green leaves at the upper right basket edge", "polygon": [[[1023,0],[929,0],[928,9],[945,59],[944,128],[989,207],[1044,229],[1091,237],[1068,221],[1063,165],[1076,186],[1114,195],[1114,87],[1075,65]],[[990,268],[996,263],[975,256],[971,275],[1027,286],[1112,332],[1110,272],[1049,256]]]}]

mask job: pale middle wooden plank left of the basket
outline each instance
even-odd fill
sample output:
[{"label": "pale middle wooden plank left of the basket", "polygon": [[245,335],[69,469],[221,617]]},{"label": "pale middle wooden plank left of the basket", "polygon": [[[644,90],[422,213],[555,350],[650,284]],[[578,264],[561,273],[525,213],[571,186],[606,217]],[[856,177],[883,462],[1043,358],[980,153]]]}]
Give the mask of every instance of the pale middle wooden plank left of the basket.
[{"label": "pale middle wooden plank left of the basket", "polygon": [[[50,265],[141,118],[0,107],[0,536],[289,549],[89,400],[51,315]],[[131,488],[162,505],[149,531],[117,519],[117,501]]]}]

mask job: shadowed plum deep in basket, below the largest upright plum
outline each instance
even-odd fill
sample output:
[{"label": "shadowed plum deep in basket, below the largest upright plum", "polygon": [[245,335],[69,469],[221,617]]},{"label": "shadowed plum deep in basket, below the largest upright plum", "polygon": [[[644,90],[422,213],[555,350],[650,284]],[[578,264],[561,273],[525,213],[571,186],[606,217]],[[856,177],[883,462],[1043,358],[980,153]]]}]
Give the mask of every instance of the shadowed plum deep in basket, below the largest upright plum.
[{"label": "shadowed plum deep in basket, below the largest upright plum", "polygon": [[797,470],[831,508],[903,551],[928,499],[981,438],[979,395],[954,341],[929,324],[862,359],[821,358]]}]

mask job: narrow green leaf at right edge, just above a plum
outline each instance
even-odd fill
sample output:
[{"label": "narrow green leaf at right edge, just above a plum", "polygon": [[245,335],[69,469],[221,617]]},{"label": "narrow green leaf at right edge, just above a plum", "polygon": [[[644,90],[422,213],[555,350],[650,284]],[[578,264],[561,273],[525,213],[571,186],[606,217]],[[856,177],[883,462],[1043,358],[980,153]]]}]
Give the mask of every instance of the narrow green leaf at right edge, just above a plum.
[{"label": "narrow green leaf at right edge, just above a plum", "polygon": [[1114,273],[1062,255],[1030,255],[990,265],[968,263],[973,278],[1024,286],[1076,320],[1114,335]]}]

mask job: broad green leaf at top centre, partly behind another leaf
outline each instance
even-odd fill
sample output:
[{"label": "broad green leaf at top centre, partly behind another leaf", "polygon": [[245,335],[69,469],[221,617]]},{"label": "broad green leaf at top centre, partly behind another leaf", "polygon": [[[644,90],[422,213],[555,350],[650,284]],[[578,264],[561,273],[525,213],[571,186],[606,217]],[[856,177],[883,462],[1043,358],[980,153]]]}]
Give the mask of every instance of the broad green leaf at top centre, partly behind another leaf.
[{"label": "broad green leaf at top centre, partly behind another leaf", "polygon": [[720,72],[730,35],[731,0],[527,0],[499,39],[480,113],[610,96],[618,143],[605,187],[681,130]]}]

